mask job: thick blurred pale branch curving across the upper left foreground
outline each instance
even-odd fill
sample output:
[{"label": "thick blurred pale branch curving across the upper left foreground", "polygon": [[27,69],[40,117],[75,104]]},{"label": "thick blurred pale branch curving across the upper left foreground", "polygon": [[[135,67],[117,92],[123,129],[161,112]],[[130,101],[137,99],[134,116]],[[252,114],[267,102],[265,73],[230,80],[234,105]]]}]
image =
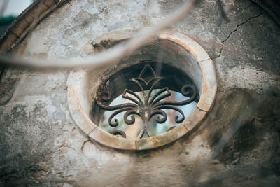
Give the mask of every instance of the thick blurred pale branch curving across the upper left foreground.
[{"label": "thick blurred pale branch curving across the upper left foreground", "polygon": [[137,36],[132,37],[128,41],[119,43],[115,47],[97,53],[96,55],[83,57],[83,58],[71,58],[71,59],[53,59],[42,60],[34,59],[31,57],[16,57],[8,55],[0,55],[0,64],[13,65],[20,67],[29,67],[36,69],[62,69],[62,68],[74,68],[74,67],[102,67],[106,64],[113,64],[123,57],[130,55],[137,48],[144,46],[150,41],[156,34],[171,27],[175,22],[178,22],[184,18],[190,11],[193,10],[196,4],[200,0],[190,0],[181,6],[177,11],[174,11],[166,19],[159,22],[154,27],[144,29],[139,32]]}]

